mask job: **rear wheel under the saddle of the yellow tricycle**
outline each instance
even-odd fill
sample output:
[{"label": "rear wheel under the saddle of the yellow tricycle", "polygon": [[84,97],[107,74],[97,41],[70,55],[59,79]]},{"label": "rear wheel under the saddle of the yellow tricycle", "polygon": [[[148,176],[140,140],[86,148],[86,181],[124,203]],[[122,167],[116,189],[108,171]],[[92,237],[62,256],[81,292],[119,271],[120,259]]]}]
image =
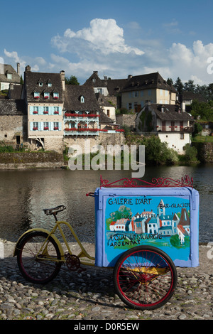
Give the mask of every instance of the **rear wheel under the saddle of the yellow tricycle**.
[{"label": "rear wheel under the saddle of the yellow tricycle", "polygon": [[57,276],[62,262],[58,244],[45,232],[30,232],[18,247],[17,262],[21,274],[33,283],[46,284]]}]

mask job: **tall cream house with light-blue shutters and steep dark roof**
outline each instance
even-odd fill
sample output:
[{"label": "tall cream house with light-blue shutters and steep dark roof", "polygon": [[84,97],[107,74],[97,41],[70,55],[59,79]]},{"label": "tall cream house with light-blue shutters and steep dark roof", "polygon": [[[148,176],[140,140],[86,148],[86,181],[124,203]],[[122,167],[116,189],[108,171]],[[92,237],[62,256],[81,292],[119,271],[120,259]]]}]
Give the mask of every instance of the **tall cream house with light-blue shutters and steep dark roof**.
[{"label": "tall cream house with light-blue shutters and steep dark roof", "polygon": [[24,72],[23,97],[28,112],[28,140],[31,148],[62,151],[65,72]]}]

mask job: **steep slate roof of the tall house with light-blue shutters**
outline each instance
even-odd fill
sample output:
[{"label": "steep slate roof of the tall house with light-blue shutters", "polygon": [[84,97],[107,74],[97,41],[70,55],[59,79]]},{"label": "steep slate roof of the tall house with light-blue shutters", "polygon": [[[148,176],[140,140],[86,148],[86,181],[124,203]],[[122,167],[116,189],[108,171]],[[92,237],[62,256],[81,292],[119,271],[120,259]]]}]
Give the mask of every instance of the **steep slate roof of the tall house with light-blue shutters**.
[{"label": "steep slate roof of the tall house with light-blue shutters", "polygon": [[[24,73],[26,98],[28,102],[35,102],[34,92],[40,93],[40,99],[38,99],[37,102],[63,102],[62,80],[60,73],[31,72],[31,70],[26,70]],[[42,82],[43,86],[40,86],[39,82]],[[48,82],[52,83],[52,87],[48,87]],[[44,92],[50,93],[50,98],[48,100],[44,98]],[[59,93],[59,99],[53,99],[53,92]]]}]

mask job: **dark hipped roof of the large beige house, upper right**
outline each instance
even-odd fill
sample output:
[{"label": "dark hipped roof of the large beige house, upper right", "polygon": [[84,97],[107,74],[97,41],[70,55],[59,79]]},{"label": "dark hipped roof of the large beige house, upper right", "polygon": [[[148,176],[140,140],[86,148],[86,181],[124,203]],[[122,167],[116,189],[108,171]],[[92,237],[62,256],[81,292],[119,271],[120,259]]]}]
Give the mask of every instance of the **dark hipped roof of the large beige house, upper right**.
[{"label": "dark hipped roof of the large beige house, upper right", "polygon": [[131,77],[126,82],[122,92],[130,92],[132,90],[148,90],[151,88],[176,92],[175,87],[173,87],[173,85],[168,85],[166,80],[164,80],[158,72]]}]

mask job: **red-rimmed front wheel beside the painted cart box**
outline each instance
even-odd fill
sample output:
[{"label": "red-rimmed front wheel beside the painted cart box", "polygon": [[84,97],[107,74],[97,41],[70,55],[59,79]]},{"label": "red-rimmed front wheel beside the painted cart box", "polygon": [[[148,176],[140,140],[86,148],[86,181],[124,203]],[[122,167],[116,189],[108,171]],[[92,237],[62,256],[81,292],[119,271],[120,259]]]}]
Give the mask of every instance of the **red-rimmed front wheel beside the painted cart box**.
[{"label": "red-rimmed front wheel beside the painted cart box", "polygon": [[138,246],[121,255],[114,266],[114,289],[131,308],[153,310],[173,296],[178,274],[161,249]]}]

